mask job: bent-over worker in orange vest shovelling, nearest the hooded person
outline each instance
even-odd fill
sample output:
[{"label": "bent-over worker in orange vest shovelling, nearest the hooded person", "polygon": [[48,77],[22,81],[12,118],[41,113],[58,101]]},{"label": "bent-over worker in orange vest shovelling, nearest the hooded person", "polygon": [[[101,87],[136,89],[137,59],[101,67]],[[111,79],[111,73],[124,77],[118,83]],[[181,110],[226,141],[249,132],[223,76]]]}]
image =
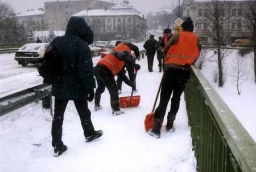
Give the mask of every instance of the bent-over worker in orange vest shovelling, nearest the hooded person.
[{"label": "bent-over worker in orange vest shovelling, nearest the hooded person", "polygon": [[106,87],[108,88],[110,94],[112,114],[120,115],[123,113],[119,107],[118,87],[115,83],[114,76],[121,76],[122,80],[125,81],[127,85],[131,86],[132,88],[135,87],[134,83],[131,82],[123,73],[122,68],[125,63],[132,65],[135,69],[140,68],[138,64],[134,63],[133,58],[128,51],[114,51],[98,61],[95,68],[95,76],[98,84],[94,97],[95,110],[102,109],[100,105],[101,94],[105,91]]}]

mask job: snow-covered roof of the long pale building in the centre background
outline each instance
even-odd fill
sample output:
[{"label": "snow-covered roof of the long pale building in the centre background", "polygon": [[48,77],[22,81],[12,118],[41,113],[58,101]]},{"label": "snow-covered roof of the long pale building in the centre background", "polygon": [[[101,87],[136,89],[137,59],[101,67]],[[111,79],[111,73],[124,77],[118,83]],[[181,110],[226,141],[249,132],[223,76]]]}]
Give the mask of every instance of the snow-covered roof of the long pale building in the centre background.
[{"label": "snow-covered roof of the long pale building in the centre background", "polygon": [[108,9],[101,10],[83,10],[74,14],[73,16],[118,16],[118,15],[139,15],[142,17],[141,12],[135,10],[132,6],[125,3],[119,3]]}]

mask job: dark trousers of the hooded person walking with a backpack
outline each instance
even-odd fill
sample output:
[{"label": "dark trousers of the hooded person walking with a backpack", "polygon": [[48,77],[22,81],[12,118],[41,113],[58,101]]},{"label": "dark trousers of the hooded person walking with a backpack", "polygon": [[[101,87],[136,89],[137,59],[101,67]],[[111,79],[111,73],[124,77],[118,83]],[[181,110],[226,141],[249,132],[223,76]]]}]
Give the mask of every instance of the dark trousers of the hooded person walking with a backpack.
[{"label": "dark trousers of the hooded person walking with a backpack", "polygon": [[[88,109],[87,100],[74,100],[74,102],[81,120],[82,129],[84,130],[84,136],[92,135],[94,127],[90,119],[90,110]],[[63,141],[61,141],[62,125],[67,104],[68,100],[60,100],[55,97],[54,117],[52,121],[52,146],[56,148],[63,146]]]}]

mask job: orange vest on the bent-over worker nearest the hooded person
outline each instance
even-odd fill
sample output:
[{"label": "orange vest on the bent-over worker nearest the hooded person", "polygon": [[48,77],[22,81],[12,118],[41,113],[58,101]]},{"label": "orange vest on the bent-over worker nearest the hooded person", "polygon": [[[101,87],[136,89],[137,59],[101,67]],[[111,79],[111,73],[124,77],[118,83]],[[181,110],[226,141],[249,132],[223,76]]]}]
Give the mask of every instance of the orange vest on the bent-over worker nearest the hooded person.
[{"label": "orange vest on the bent-over worker nearest the hooded person", "polygon": [[100,61],[98,61],[98,64],[102,64],[108,67],[109,70],[112,72],[113,76],[115,76],[122,70],[125,62],[119,60],[117,57],[110,53],[104,58],[100,59]]}]

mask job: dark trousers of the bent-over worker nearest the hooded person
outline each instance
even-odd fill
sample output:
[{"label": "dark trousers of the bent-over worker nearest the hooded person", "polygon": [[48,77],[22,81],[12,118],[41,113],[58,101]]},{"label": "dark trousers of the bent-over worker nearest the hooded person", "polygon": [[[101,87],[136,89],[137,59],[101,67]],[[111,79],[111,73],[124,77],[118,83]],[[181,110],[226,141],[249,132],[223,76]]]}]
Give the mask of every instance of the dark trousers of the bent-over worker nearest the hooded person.
[{"label": "dark trousers of the bent-over worker nearest the hooded person", "polygon": [[112,72],[105,66],[96,66],[95,76],[97,80],[97,89],[94,96],[95,105],[100,105],[101,94],[105,91],[105,87],[110,94],[110,102],[113,110],[120,110],[118,88],[115,83]]}]

